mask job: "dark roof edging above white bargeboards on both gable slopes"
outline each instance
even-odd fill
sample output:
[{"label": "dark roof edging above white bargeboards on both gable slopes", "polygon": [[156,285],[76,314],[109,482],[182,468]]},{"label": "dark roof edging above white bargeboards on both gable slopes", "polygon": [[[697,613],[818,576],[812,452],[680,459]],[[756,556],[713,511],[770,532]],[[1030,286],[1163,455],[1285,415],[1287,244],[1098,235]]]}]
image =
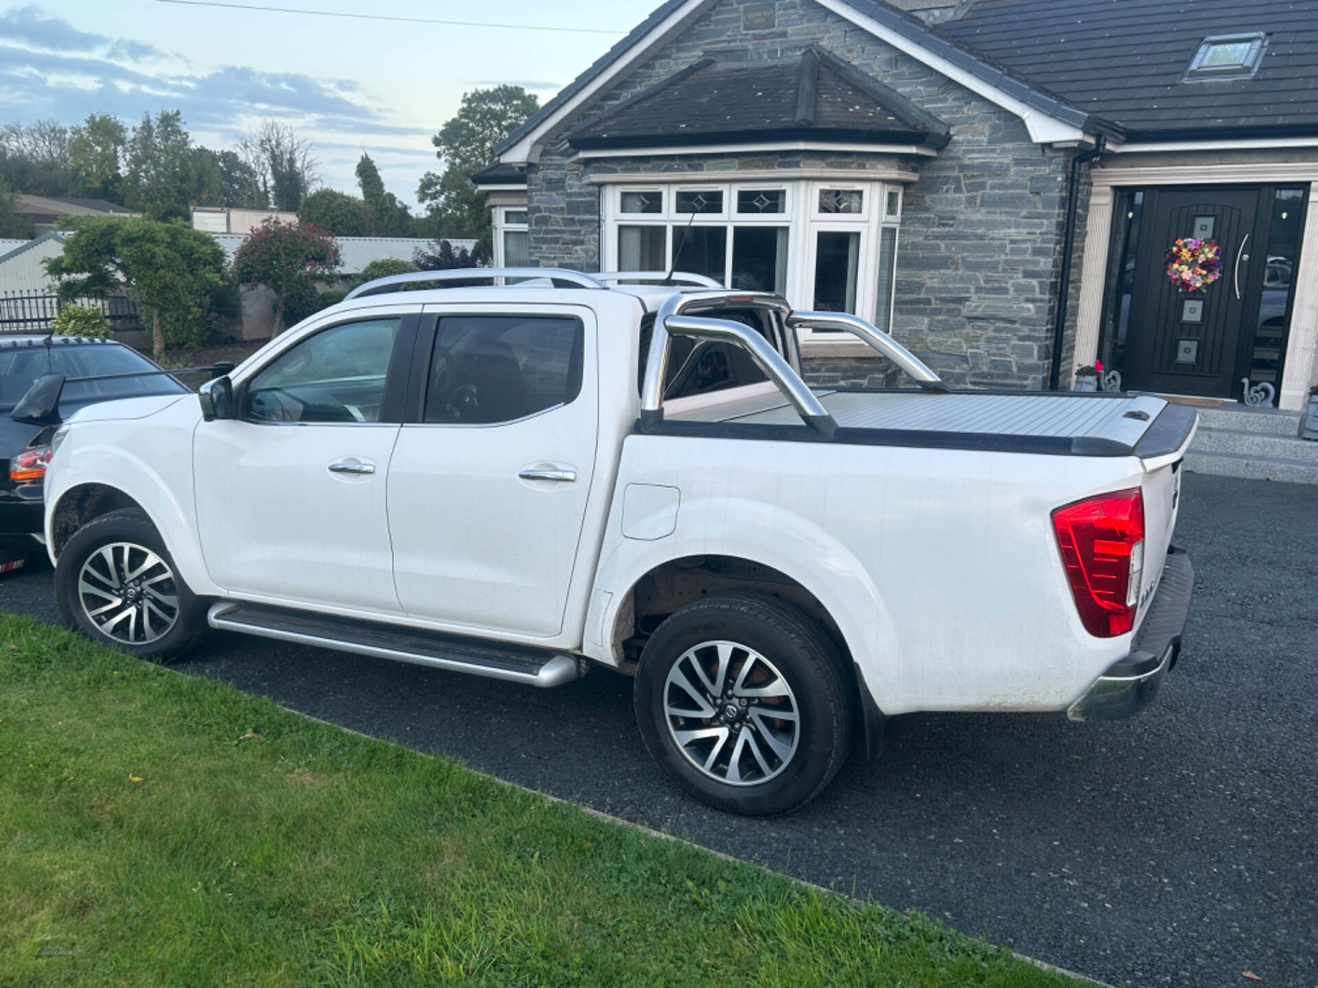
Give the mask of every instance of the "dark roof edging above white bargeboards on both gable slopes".
[{"label": "dark roof edging above white bargeboards on both gable slopes", "polygon": [[[502,154],[526,137],[526,134],[531,130],[538,128],[544,120],[556,113],[564,103],[594,82],[597,76],[600,76],[610,65],[617,62],[623,53],[631,49],[633,45],[638,43],[641,38],[662,24],[675,11],[681,8],[684,1],[685,0],[667,0],[667,3],[655,9],[655,12],[646,17],[645,21],[633,28],[627,36],[622,38],[622,41],[605,51],[604,55],[597,58],[594,63],[590,65],[589,69],[568,83],[567,87],[546,103],[539,112],[531,116],[525,124],[522,124],[522,126],[494,145],[494,154]],[[701,7],[693,12],[693,16],[699,16],[716,1],[717,0],[708,0],[708,3],[701,4]],[[891,28],[915,43],[929,49],[929,51],[941,55],[942,58],[946,58],[954,66],[965,69],[977,78],[996,86],[1003,92],[1019,99],[1027,107],[1033,107],[1035,109],[1039,109],[1064,123],[1072,124],[1086,133],[1101,133],[1114,140],[1126,140],[1124,130],[1116,124],[1103,120],[1102,117],[1091,116],[1090,113],[1073,107],[1060,96],[1035,86],[1024,76],[1016,75],[1004,66],[998,65],[987,55],[978,53],[970,46],[963,45],[961,41],[952,38],[949,34],[937,30],[937,28],[927,25],[913,14],[908,14],[895,7],[888,7],[882,0],[846,0],[846,3],[849,7],[855,8],[859,13],[873,17],[886,28]]]}]

